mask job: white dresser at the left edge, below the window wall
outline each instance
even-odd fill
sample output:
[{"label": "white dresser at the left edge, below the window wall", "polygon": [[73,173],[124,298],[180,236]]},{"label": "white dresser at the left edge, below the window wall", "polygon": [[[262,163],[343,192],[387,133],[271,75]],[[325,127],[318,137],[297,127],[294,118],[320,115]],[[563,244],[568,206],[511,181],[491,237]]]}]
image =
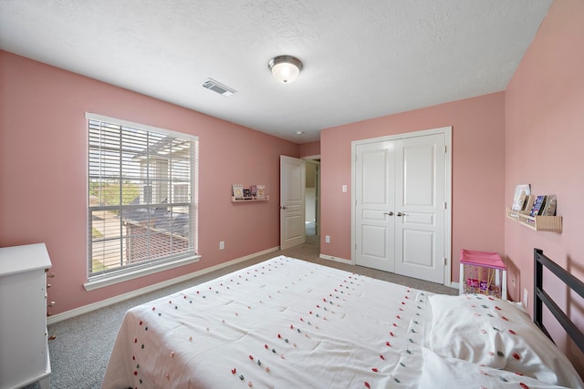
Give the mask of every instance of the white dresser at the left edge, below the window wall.
[{"label": "white dresser at the left edge, below the window wall", "polygon": [[47,275],[44,243],[0,248],[0,389],[40,381],[48,389]]}]

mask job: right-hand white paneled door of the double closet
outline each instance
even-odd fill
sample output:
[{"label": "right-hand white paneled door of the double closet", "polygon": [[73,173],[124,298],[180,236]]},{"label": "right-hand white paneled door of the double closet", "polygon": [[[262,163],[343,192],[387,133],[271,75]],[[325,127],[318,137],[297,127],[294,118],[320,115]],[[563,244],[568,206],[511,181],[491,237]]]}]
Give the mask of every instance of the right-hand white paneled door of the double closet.
[{"label": "right-hand white paneled door of the double closet", "polygon": [[396,140],[398,274],[444,282],[444,163],[443,134]]}]

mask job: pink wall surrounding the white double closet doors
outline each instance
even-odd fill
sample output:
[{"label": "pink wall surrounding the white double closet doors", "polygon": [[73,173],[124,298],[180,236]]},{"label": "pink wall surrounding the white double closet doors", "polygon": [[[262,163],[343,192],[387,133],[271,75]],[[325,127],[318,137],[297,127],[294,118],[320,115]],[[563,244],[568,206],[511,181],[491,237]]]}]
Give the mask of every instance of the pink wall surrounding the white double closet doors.
[{"label": "pink wall surrounding the white double closet doors", "polygon": [[[453,281],[461,249],[504,248],[505,98],[495,93],[383,118],[320,134],[322,224],[320,252],[350,260],[351,141],[422,129],[453,127]],[[342,193],[342,185],[349,191]],[[325,243],[324,236],[330,236]]]}]

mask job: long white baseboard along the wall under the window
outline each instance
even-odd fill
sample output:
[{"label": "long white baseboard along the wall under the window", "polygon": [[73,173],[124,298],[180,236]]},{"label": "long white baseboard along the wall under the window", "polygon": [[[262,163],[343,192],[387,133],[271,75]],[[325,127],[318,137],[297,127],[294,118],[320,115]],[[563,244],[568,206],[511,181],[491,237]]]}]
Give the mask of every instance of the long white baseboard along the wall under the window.
[{"label": "long white baseboard along the wall under the window", "polygon": [[80,314],[92,312],[92,311],[98,310],[99,308],[107,307],[107,306],[115,304],[117,302],[123,302],[123,301],[131,299],[133,297],[138,297],[141,294],[158,291],[159,289],[166,288],[167,286],[174,285],[175,283],[188,281],[188,280],[191,280],[195,277],[202,276],[203,274],[207,274],[211,271],[217,271],[217,270],[226,268],[227,266],[231,266],[231,265],[235,265],[236,263],[239,263],[239,262],[251,260],[252,258],[255,258],[259,255],[264,255],[264,254],[278,251],[278,250],[280,250],[279,247],[273,247],[271,249],[267,249],[264,251],[255,252],[254,254],[245,255],[245,257],[241,257],[241,258],[237,258],[237,259],[232,260],[232,261],[220,263],[218,265],[214,265],[214,266],[202,269],[200,271],[193,271],[191,273],[184,274],[180,277],[172,278],[171,280],[158,282],[158,283],[155,283],[153,285],[149,285],[149,286],[146,286],[144,288],[137,289],[135,291],[119,294],[117,296],[110,297],[109,299],[101,300],[100,302],[93,302],[93,303],[90,303],[88,305],[84,305],[82,307],[72,309],[72,310],[67,311],[67,312],[57,313],[55,315],[47,317],[47,325],[51,325],[51,324],[54,324],[56,322],[61,322],[63,320],[70,319],[70,318],[78,316]]}]

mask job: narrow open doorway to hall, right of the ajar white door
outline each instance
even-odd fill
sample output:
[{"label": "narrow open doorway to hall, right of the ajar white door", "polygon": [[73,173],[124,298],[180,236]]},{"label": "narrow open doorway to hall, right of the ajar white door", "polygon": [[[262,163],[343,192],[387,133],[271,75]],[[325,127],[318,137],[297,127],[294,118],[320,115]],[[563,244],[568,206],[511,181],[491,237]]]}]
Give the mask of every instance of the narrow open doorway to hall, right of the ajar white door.
[{"label": "narrow open doorway to hall, right of the ajar white door", "polygon": [[305,223],[307,241],[320,242],[320,160],[306,160]]}]

